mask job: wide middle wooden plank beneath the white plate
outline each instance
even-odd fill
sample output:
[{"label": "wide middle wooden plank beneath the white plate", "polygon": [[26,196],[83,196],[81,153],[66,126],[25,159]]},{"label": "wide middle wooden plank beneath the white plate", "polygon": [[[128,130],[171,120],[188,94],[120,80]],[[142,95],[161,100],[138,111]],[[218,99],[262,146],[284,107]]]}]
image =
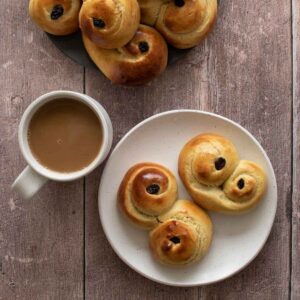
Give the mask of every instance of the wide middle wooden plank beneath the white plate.
[{"label": "wide middle wooden plank beneath the white plate", "polygon": [[155,284],[113,253],[98,219],[100,171],[86,182],[87,299],[287,299],[291,197],[290,2],[220,1],[209,39],[149,86],[111,86],[94,71],[86,91],[112,117],[117,142],[144,118],[176,108],[225,115],[249,129],[270,156],[279,183],[278,211],[266,246],[244,271],[224,282],[192,289]]}]

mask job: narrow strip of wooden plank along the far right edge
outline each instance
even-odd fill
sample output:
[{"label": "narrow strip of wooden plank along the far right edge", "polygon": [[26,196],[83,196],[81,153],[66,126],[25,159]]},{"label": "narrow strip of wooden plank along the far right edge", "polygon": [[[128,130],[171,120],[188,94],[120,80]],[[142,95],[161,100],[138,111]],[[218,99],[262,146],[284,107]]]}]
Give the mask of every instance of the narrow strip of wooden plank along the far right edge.
[{"label": "narrow strip of wooden plank along the far right edge", "polygon": [[291,298],[300,298],[300,4],[293,0],[293,216]]}]

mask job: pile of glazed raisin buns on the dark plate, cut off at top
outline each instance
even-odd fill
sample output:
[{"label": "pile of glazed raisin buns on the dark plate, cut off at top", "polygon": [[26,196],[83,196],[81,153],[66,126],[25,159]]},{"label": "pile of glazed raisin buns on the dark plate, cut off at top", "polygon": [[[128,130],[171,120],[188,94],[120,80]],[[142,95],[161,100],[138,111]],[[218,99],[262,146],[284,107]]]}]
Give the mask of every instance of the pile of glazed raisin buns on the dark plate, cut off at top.
[{"label": "pile of glazed raisin buns on the dark plate, cut off at top", "polygon": [[206,38],[217,0],[30,0],[29,15],[76,62],[135,86]]}]

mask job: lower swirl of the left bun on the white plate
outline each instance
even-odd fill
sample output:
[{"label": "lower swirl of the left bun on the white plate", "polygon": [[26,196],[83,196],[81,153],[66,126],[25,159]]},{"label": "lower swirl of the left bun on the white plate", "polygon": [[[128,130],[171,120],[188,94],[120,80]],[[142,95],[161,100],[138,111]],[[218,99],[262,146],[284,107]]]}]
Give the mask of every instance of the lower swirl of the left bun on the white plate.
[{"label": "lower swirl of the left bun on the white plate", "polygon": [[163,264],[194,263],[208,251],[213,226],[209,216],[188,200],[178,200],[150,232],[150,249]]}]

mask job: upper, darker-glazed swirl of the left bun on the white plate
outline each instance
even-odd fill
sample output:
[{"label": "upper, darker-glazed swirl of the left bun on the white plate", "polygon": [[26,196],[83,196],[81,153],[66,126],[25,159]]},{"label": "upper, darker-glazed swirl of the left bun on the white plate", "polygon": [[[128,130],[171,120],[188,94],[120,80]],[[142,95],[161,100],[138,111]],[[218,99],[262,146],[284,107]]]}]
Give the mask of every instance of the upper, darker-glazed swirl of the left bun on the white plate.
[{"label": "upper, darker-glazed swirl of the left bun on the white plate", "polygon": [[121,210],[143,229],[154,228],[158,217],[172,207],[176,198],[174,175],[155,163],[140,163],[130,168],[118,192]]}]

